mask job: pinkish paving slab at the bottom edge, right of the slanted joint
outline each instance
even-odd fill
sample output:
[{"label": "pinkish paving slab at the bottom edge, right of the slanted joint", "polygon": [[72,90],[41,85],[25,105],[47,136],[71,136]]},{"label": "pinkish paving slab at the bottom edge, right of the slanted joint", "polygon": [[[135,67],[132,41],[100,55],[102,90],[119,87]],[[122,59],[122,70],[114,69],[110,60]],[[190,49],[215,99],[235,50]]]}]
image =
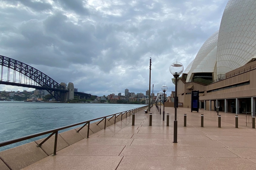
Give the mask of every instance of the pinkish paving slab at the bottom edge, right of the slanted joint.
[{"label": "pinkish paving slab at the bottom edge, right of the slanted joint", "polygon": [[256,164],[241,158],[191,158],[163,156],[124,156],[117,170],[254,170]]}]

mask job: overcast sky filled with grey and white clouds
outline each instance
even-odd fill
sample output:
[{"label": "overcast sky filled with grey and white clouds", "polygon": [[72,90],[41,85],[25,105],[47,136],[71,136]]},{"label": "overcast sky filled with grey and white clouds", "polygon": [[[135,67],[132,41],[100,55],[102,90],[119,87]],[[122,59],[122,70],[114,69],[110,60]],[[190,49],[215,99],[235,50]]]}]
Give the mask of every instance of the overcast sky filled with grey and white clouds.
[{"label": "overcast sky filled with grey and white clouds", "polygon": [[[167,85],[215,31],[228,0],[0,0],[0,55],[92,95]],[[34,89],[0,85],[0,91]]]}]

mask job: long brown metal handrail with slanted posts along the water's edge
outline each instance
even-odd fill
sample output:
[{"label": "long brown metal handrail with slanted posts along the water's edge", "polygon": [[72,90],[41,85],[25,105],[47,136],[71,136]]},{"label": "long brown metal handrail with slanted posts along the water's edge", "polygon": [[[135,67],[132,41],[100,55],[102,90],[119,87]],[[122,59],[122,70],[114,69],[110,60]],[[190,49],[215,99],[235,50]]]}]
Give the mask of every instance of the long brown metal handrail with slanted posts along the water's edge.
[{"label": "long brown metal handrail with slanted posts along the water's edge", "polygon": [[[123,115],[125,114],[126,115],[126,118],[127,118],[127,114],[129,113],[129,116],[131,115],[131,112],[132,113],[137,113],[138,111],[141,111],[143,110],[144,108],[148,108],[148,106],[143,106],[143,107],[139,107],[139,108],[136,108],[136,109],[131,109],[131,110],[128,110],[128,111],[123,111],[123,112],[119,112],[119,113],[116,113],[116,114],[111,114],[111,115],[108,115],[108,116],[103,116],[103,117],[99,117],[99,118],[96,118],[96,119],[91,119],[91,120],[87,120],[87,121],[84,121],[84,122],[79,122],[79,123],[76,123],[76,124],[71,124],[71,125],[68,125],[68,126],[64,126],[64,127],[59,127],[59,128],[56,128],[56,129],[52,129],[52,130],[48,130],[48,131],[44,131],[44,132],[39,132],[39,133],[35,133],[35,134],[32,134],[32,135],[27,135],[27,136],[24,136],[24,137],[20,137],[20,138],[17,138],[17,139],[13,139],[13,140],[7,140],[7,141],[4,141],[4,142],[1,142],[0,143],[0,147],[2,146],[6,146],[6,145],[10,145],[10,144],[13,144],[13,143],[17,143],[17,142],[20,142],[20,141],[24,141],[24,140],[28,140],[28,139],[31,139],[31,138],[34,138],[34,137],[38,137],[38,136],[42,136],[42,135],[46,135],[46,134],[49,134],[51,133],[48,137],[45,138],[45,140],[43,140],[39,145],[37,145],[37,147],[40,147],[43,143],[45,143],[45,141],[47,141],[51,136],[55,135],[55,141],[54,141],[54,148],[53,148],[53,156],[56,155],[56,149],[57,149],[57,140],[58,140],[58,132],[60,130],[64,130],[64,129],[67,129],[67,128],[70,128],[70,127],[75,127],[75,126],[78,126],[78,125],[81,125],[81,124],[84,124],[78,131],[76,132],[79,132],[81,129],[83,129],[86,125],[87,126],[87,137],[86,138],[89,138],[89,128],[90,128],[90,122],[94,122],[96,120],[99,120],[99,119],[102,119],[100,122],[102,122],[103,120],[105,120],[105,126],[104,126],[104,129],[106,128],[106,119],[108,117],[110,117],[108,120],[112,119],[114,116],[115,116],[115,122],[114,124],[116,124],[116,118],[118,116],[121,115],[121,121],[123,119]],[[117,116],[116,116],[117,115]],[[98,122],[97,125],[100,123]]]}]

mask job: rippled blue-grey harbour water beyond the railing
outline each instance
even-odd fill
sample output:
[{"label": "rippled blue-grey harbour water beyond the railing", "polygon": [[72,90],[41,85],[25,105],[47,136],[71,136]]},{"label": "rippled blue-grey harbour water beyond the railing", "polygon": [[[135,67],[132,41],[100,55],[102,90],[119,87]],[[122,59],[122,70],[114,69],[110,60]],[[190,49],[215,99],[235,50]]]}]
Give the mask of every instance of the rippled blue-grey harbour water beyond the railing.
[{"label": "rippled blue-grey harbour water beyond the railing", "polygon": [[[0,142],[142,106],[144,105],[0,101]],[[47,136],[0,147],[0,151]]]}]

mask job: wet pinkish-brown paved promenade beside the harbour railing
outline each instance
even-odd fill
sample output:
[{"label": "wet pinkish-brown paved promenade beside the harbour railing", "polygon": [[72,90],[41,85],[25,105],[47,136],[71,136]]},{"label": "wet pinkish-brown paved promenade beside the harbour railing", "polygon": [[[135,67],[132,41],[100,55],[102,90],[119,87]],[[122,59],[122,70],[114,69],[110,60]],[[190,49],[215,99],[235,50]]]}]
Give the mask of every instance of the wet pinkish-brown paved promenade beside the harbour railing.
[{"label": "wet pinkish-brown paved promenade beside the harbour railing", "polygon": [[[163,108],[162,108],[163,110]],[[178,108],[178,143],[173,143],[174,108],[165,108],[170,114],[170,126],[162,121],[156,107],[149,114],[136,113],[135,126],[132,116],[106,127],[88,139],[68,146],[24,170],[211,170],[256,169],[256,130],[246,127],[244,114],[221,114],[221,128],[215,111]],[[187,114],[187,127],[184,127]],[[201,127],[204,114],[204,127]]]}]

